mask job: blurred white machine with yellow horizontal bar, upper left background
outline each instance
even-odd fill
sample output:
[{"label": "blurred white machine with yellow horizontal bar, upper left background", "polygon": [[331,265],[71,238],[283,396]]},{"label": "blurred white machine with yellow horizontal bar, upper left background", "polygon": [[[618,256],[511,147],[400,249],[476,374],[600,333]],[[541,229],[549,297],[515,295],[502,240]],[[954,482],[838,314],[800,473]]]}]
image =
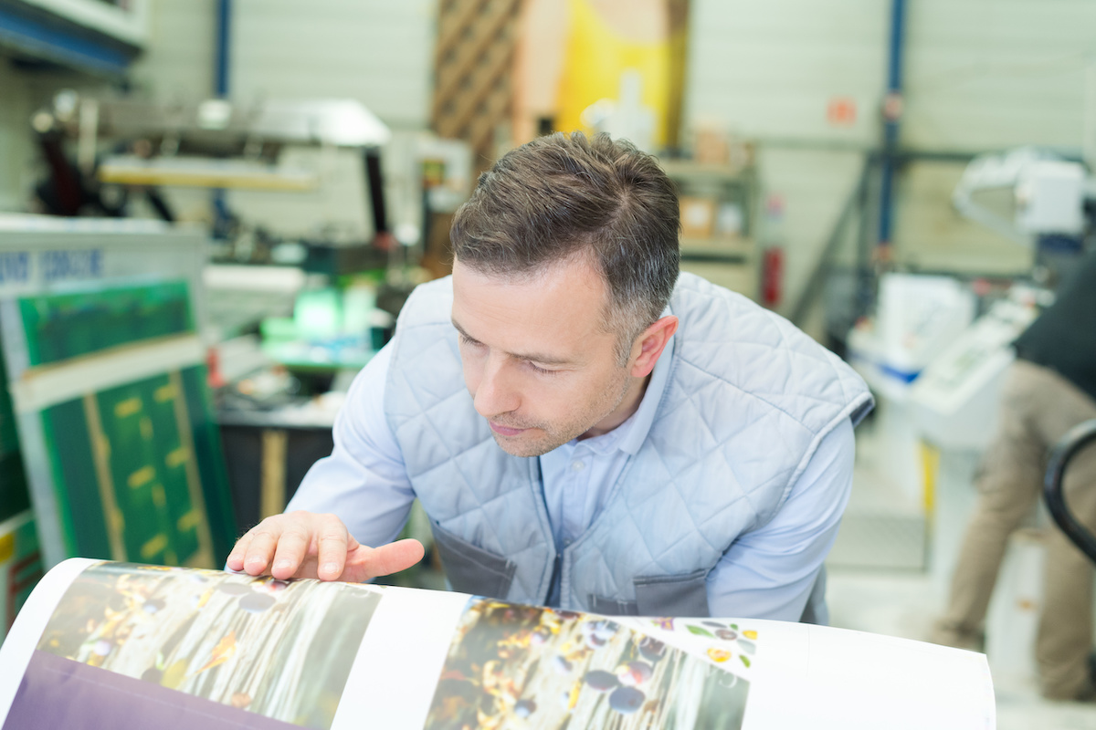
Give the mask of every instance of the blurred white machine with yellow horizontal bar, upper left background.
[{"label": "blurred white machine with yellow horizontal bar, upper left background", "polygon": [[[91,177],[113,197],[163,186],[157,213],[202,220],[207,190],[220,188],[246,229],[282,240],[356,245],[388,230],[380,153],[392,135],[355,100],[153,104],[62,91],[31,124],[58,190],[90,187]],[[76,142],[77,170],[65,164],[62,140]],[[44,198],[49,212],[81,212],[53,197]]]}]

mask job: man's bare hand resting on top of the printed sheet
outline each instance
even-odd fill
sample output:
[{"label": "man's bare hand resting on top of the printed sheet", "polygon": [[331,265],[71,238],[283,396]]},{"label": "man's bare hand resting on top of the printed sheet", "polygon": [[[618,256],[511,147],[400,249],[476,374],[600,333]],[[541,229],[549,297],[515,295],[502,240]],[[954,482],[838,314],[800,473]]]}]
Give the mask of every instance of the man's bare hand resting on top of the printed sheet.
[{"label": "man's bare hand resting on top of the printed sheet", "polygon": [[269,517],[249,530],[229,554],[228,567],[251,576],[269,572],[282,580],[364,582],[410,568],[422,556],[418,540],[367,547],[334,514],[297,511]]}]

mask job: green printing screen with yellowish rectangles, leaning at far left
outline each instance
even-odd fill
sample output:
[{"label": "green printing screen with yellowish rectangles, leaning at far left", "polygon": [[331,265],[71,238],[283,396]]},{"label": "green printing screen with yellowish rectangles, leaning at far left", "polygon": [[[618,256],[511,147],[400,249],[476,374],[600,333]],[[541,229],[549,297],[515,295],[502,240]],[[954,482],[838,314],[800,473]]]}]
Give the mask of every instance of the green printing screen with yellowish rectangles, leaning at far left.
[{"label": "green printing screen with yellowish rectangles, leaning at far left", "polygon": [[[194,331],[184,282],[31,297],[19,312],[32,374],[155,357]],[[67,555],[222,565],[235,526],[204,366],[92,385],[42,408],[39,425]]]}]

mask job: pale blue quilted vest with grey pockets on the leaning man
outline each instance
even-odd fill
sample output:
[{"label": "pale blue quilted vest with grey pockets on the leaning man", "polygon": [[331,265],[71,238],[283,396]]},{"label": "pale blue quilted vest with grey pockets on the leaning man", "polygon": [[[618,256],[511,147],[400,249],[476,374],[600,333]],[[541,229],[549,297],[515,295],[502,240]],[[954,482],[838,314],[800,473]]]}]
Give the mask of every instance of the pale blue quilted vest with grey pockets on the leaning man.
[{"label": "pale blue quilted vest with grey pockets on the leaning man", "polygon": [[[819,442],[871,409],[864,381],[786,320],[682,274],[680,320],[651,430],[602,512],[556,545],[539,459],[495,444],[465,387],[452,280],[397,322],[385,412],[454,590],[602,614],[708,615],[705,580],[767,523]],[[558,581],[558,582],[557,582]]]}]

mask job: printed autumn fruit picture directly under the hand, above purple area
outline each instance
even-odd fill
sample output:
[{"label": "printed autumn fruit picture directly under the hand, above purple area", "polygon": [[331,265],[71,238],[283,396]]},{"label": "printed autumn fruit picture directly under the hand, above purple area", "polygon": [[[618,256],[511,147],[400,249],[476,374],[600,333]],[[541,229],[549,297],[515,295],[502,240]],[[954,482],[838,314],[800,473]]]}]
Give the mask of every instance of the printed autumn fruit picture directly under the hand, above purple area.
[{"label": "printed autumn fruit picture directly under the hand, above purple area", "polygon": [[101,564],[72,582],[37,648],[327,730],[379,601],[364,586]]}]

